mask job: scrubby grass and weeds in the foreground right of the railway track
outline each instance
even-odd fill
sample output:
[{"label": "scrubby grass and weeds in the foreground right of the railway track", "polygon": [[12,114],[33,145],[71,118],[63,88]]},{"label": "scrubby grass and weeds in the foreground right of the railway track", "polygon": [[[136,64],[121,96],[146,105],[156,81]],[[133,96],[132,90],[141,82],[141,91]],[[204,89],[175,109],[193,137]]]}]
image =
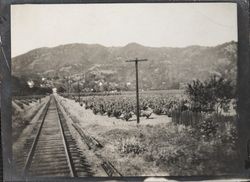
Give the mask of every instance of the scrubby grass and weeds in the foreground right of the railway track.
[{"label": "scrubby grass and weeds in the foreground right of the railway track", "polygon": [[[156,169],[169,175],[231,174],[237,171],[235,145],[229,139],[232,128],[228,125],[227,131],[217,132],[210,140],[202,139],[191,127],[174,123],[141,126],[136,134],[116,130],[112,144],[104,150],[113,151],[106,154],[119,161],[116,167],[124,175],[151,174]],[[106,140],[111,136],[108,133],[103,134]]]}]

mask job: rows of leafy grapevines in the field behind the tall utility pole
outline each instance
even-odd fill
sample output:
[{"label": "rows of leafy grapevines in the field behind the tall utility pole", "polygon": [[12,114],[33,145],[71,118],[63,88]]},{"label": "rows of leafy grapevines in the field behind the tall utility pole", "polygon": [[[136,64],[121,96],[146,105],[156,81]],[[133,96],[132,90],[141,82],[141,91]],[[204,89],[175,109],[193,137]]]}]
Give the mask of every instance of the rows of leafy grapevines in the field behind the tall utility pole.
[{"label": "rows of leafy grapevines in the field behind the tall utility pole", "polygon": [[[79,102],[78,97],[71,97]],[[94,114],[107,115],[128,121],[128,115],[134,115],[136,111],[134,95],[88,96],[81,97],[79,104],[85,109],[91,109]],[[187,100],[182,95],[164,96],[144,94],[140,98],[141,116],[150,113],[171,116],[173,110],[184,109]],[[148,113],[148,114],[146,114]]]}]

